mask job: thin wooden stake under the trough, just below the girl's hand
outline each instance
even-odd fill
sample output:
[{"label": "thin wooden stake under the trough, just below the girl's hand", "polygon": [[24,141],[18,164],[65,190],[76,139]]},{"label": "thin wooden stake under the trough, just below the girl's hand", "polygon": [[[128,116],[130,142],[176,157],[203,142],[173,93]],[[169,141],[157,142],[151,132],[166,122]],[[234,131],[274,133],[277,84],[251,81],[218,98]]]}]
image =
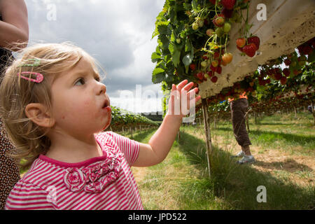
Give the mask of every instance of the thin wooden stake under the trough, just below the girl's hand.
[{"label": "thin wooden stake under the trough, just below the girl's hand", "polygon": [[209,125],[209,114],[208,114],[208,104],[207,99],[202,99],[202,114],[204,118],[204,132],[206,133],[206,145],[207,145],[207,160],[209,169],[209,178],[211,179],[211,166],[210,166],[210,156],[212,152],[211,144],[211,130]]}]

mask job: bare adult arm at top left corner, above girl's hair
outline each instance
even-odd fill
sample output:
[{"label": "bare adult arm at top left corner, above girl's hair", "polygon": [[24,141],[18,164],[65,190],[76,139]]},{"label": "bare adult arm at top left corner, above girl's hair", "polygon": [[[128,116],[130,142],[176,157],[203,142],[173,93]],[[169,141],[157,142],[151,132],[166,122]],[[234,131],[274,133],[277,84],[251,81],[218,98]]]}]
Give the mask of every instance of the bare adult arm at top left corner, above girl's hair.
[{"label": "bare adult arm at top left corner, above girl's hair", "polygon": [[[0,46],[16,51],[29,41],[27,6],[24,0],[0,0]],[[17,45],[13,43],[25,43]]]}]

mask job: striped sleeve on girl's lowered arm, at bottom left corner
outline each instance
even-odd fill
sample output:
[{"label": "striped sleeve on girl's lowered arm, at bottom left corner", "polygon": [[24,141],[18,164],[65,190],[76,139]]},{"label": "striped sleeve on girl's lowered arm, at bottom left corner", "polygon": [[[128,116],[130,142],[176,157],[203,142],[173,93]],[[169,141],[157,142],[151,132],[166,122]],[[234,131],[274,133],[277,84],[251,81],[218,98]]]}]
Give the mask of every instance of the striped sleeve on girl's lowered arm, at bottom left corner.
[{"label": "striped sleeve on girl's lowered arm, at bottom left corner", "polygon": [[18,181],[6,200],[6,210],[51,210],[48,192],[32,183]]}]

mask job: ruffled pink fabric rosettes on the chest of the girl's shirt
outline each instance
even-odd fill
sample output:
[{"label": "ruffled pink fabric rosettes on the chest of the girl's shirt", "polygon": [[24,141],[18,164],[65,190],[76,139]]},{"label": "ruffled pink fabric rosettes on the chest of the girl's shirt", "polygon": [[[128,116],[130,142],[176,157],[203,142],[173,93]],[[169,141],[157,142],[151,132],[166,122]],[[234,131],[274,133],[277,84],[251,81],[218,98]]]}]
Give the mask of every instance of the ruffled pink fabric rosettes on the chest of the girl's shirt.
[{"label": "ruffled pink fabric rosettes on the chest of the girl's shirt", "polygon": [[106,159],[94,162],[83,169],[68,168],[64,174],[64,183],[72,192],[84,190],[87,193],[99,193],[113,181],[118,179],[122,153],[107,153]]}]

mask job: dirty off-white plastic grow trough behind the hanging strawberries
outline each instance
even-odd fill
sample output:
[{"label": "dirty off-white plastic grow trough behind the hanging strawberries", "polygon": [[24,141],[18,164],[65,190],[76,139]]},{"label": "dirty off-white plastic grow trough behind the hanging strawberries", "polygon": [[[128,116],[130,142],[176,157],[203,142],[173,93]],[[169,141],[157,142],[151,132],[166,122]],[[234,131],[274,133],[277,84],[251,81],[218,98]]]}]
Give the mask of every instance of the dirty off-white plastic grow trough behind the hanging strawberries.
[{"label": "dirty off-white plastic grow trough behind the hanging strawberries", "polygon": [[[267,20],[258,20],[258,4],[265,4]],[[246,18],[246,10],[243,11]],[[203,99],[221,92],[224,87],[232,86],[245,76],[284,54],[294,51],[298,45],[315,36],[315,0],[251,0],[249,8],[249,24],[251,33],[260,37],[260,48],[254,57],[241,56],[236,40],[239,28],[244,25],[233,24],[230,31],[228,52],[232,52],[233,60],[223,66],[217,83],[210,79],[199,85]]]}]

